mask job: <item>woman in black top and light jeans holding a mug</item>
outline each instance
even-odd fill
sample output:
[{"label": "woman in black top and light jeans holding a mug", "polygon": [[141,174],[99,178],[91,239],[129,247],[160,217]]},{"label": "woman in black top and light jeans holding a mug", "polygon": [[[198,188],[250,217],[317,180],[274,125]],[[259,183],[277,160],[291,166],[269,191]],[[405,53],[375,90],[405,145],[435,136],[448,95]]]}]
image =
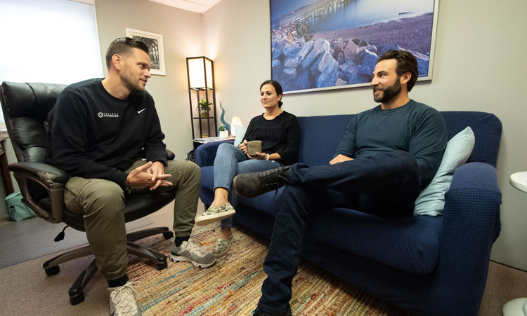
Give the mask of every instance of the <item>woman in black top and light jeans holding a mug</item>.
[{"label": "woman in black top and light jeans holding a mug", "polygon": [[[212,249],[216,257],[225,255],[233,242],[230,227],[237,206],[237,195],[231,190],[234,177],[298,162],[300,127],[296,116],[281,109],[281,99],[280,83],[264,81],[260,85],[260,101],[266,111],[251,120],[238,148],[227,143],[218,147],[214,160],[214,200],[195,221],[196,225],[203,226],[221,220],[219,238]],[[252,140],[261,141],[261,153],[249,156],[247,142]]]}]

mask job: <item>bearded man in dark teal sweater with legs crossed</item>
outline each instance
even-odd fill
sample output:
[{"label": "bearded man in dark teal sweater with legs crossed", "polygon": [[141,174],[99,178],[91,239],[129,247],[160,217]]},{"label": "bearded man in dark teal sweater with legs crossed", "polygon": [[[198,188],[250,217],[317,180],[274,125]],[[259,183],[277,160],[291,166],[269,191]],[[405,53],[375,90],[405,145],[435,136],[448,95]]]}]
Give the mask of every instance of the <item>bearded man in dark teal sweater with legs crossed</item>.
[{"label": "bearded man in dark teal sweater with legs crossed", "polygon": [[234,178],[235,191],[247,198],[287,185],[254,316],[291,315],[291,284],[309,214],[347,207],[379,217],[412,216],[415,199],[434,178],[447,143],[443,116],[408,97],[417,74],[412,53],[389,50],[373,71],[373,99],[380,104],[351,118],[327,165],[297,163]]}]

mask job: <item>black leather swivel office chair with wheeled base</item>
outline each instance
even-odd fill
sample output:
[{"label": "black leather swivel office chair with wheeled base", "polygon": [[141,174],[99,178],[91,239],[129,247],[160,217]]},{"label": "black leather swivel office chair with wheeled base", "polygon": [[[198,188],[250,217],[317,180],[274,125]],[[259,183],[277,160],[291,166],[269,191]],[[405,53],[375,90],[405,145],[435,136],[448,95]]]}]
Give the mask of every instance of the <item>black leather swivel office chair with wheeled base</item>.
[{"label": "black leather swivel office chair with wheeled base", "polygon": [[[44,163],[46,152],[46,131],[48,112],[55,105],[60,91],[65,85],[50,83],[10,83],[0,87],[0,102],[4,119],[18,163],[11,163],[13,172],[25,203],[42,219],[51,223],[63,222],[77,231],[84,230],[82,215],[70,212],[64,205],[64,186],[68,174]],[[174,153],[167,151],[169,160]],[[134,221],[156,212],[174,200],[175,191],[126,195],[124,219]],[[149,228],[127,234],[129,254],[135,254],[157,263],[157,270],[167,268],[167,258],[155,250],[133,242],[155,234],[171,238],[174,233],[167,227]],[[57,238],[56,238],[57,240]],[[44,263],[47,275],[59,273],[59,264],[91,254],[89,246],[60,254]],[[96,273],[95,258],[77,277],[70,288],[70,303],[76,305],[84,301],[83,289]]]}]

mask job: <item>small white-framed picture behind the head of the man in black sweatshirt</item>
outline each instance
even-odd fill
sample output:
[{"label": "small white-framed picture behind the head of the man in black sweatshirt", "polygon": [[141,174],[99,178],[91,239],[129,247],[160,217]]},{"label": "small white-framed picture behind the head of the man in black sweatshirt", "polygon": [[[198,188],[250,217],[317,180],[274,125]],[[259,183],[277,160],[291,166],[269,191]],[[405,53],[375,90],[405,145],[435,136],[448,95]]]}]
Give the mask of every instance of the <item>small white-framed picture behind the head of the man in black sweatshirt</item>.
[{"label": "small white-framed picture behind the head of the man in black sweatshirt", "polygon": [[150,52],[148,55],[150,56],[152,67],[150,68],[150,74],[167,76],[164,70],[163,36],[161,34],[126,28],[126,36],[142,41],[148,47]]}]

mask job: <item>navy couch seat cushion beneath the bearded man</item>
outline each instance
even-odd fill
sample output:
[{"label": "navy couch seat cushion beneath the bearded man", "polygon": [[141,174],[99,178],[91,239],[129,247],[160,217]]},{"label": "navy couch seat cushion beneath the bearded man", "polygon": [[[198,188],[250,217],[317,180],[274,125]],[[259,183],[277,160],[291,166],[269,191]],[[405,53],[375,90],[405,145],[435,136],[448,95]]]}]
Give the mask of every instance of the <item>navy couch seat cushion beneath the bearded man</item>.
[{"label": "navy couch seat cushion beneath the bearded man", "polygon": [[344,252],[427,275],[438,261],[442,226],[443,217],[382,218],[339,208],[311,217],[306,233]]}]

